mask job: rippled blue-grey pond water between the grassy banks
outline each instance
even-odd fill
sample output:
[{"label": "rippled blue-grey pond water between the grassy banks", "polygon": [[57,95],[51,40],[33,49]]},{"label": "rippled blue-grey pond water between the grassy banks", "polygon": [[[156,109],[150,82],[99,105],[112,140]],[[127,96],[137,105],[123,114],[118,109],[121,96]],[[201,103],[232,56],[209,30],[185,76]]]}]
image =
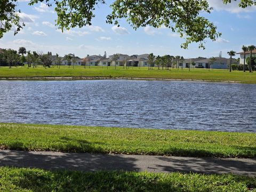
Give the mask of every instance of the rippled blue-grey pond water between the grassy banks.
[{"label": "rippled blue-grey pond water between the grassy banks", "polygon": [[0,122],[256,132],[256,85],[0,81]]}]

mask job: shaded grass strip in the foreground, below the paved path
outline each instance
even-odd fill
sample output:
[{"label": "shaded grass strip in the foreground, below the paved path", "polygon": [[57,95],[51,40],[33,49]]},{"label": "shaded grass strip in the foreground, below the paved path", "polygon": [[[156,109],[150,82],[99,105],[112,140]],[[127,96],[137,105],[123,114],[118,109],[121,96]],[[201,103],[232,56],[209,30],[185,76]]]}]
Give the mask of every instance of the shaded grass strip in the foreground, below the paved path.
[{"label": "shaded grass strip in the foreground, below the paved path", "polygon": [[256,191],[237,175],[44,171],[0,167],[1,191]]}]

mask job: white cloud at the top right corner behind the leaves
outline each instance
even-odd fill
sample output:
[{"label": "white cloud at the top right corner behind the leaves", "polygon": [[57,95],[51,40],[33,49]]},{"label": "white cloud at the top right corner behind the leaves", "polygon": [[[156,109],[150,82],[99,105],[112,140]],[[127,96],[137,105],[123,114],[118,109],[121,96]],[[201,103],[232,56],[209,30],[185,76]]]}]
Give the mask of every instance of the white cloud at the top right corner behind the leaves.
[{"label": "white cloud at the top right corner behind the leaves", "polygon": [[239,1],[231,1],[231,3],[224,4],[221,0],[207,0],[209,5],[216,11],[227,11],[230,13],[242,13],[256,11],[256,6],[246,7],[245,9],[238,6]]}]

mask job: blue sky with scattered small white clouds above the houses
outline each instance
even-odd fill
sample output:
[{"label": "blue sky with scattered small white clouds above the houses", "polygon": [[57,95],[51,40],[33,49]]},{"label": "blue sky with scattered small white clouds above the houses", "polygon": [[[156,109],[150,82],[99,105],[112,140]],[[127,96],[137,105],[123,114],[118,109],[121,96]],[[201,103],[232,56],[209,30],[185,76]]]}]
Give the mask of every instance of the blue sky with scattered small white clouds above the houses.
[{"label": "blue sky with scattered small white clouds above the houses", "polygon": [[[213,7],[211,14],[205,14],[217,26],[222,36],[212,42],[206,39],[205,50],[199,49],[198,44],[192,43],[188,49],[181,49],[185,42],[178,34],[170,29],[144,27],[134,30],[128,23],[121,21],[121,27],[106,23],[106,15],[110,13],[109,4],[100,4],[95,10],[92,26],[74,28],[63,33],[57,29],[55,19],[57,14],[53,7],[44,3],[34,6],[28,5],[28,0],[19,0],[17,9],[21,10],[20,18],[26,26],[17,35],[13,30],[4,34],[0,39],[0,48],[18,50],[25,46],[27,50],[63,56],[74,53],[84,58],[87,54],[107,55],[114,53],[154,55],[180,55],[184,58],[228,57],[227,52],[234,50],[241,52],[242,45],[256,44],[256,6],[242,9],[238,2],[225,5],[221,0],[208,0]],[[238,55],[236,56],[238,58]]]}]

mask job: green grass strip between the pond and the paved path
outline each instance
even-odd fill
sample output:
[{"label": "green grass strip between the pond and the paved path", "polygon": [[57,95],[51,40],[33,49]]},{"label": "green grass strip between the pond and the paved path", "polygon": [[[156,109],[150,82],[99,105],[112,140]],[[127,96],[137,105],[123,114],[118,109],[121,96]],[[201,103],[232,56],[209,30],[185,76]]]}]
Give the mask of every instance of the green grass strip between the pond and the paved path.
[{"label": "green grass strip between the pond and the paved path", "polygon": [[255,133],[0,124],[0,148],[78,153],[256,157]]}]

